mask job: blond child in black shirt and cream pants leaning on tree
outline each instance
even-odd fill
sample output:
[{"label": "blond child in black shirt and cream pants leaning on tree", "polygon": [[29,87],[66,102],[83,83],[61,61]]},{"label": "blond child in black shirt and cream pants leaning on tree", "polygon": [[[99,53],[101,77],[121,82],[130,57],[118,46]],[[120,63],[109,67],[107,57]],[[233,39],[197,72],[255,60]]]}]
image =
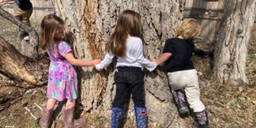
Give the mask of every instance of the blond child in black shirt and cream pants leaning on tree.
[{"label": "blond child in black shirt and cream pants leaning on tree", "polygon": [[200,100],[197,71],[191,61],[192,53],[201,56],[212,56],[212,52],[197,49],[192,43],[192,40],[198,36],[199,31],[200,25],[196,20],[184,20],[177,27],[177,38],[167,39],[163,54],[160,58],[153,59],[153,61],[157,65],[166,61],[169,84],[172,87],[172,94],[181,114],[189,113],[183,93],[183,90],[185,90],[189,106],[196,115],[192,128],[209,128],[207,111]]}]

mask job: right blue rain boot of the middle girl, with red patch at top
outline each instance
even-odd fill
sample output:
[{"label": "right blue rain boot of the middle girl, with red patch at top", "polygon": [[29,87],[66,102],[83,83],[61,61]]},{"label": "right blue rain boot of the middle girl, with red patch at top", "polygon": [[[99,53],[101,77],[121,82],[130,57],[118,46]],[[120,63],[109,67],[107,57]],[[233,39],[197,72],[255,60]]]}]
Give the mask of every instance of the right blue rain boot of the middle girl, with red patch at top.
[{"label": "right blue rain boot of the middle girl, with red patch at top", "polygon": [[147,128],[147,111],[146,108],[135,107],[135,116],[137,128]]}]

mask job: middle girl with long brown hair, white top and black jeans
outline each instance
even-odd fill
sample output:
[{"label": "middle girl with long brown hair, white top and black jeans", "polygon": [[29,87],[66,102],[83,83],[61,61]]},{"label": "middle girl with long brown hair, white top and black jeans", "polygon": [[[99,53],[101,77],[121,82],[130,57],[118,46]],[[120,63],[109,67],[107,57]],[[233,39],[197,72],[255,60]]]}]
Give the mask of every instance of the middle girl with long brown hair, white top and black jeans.
[{"label": "middle girl with long brown hair, white top and black jeans", "polygon": [[118,58],[114,76],[116,96],[112,105],[111,128],[118,128],[122,107],[128,92],[132,93],[137,128],[146,128],[146,108],[144,101],[143,67],[152,71],[155,62],[148,61],[143,56],[141,17],[132,10],[123,11],[118,18],[115,31],[106,46],[107,54],[97,70],[102,70],[111,64],[114,56]]}]

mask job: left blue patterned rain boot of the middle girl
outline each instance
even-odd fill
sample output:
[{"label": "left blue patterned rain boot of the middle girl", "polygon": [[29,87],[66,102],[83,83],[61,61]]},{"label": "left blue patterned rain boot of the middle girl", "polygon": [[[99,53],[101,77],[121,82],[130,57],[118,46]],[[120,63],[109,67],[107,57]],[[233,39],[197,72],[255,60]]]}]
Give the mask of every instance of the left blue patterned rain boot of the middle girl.
[{"label": "left blue patterned rain boot of the middle girl", "polygon": [[111,128],[119,128],[119,122],[122,115],[122,108],[113,107],[111,114]]}]

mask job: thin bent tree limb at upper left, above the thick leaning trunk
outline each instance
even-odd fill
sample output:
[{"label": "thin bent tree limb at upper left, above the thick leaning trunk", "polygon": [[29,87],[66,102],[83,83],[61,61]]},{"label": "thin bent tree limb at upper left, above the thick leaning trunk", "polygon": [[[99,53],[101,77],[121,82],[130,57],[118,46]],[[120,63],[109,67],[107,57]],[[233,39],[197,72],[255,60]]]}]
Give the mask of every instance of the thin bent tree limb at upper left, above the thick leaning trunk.
[{"label": "thin bent tree limb at upper left, above the thick leaning trunk", "polygon": [[15,16],[11,15],[9,12],[6,12],[5,10],[3,10],[3,8],[1,6],[0,6],[0,15],[2,15],[7,20],[11,21],[12,23],[16,24],[20,28],[24,29],[24,31],[29,33],[29,37],[30,37],[29,41],[25,41],[23,39],[24,37],[22,37],[22,36],[20,37],[21,38],[20,39],[20,43],[21,43],[20,52],[23,55],[26,55],[30,58],[38,58],[38,43],[39,43],[39,41],[38,41],[38,33],[36,32],[36,30],[33,27],[22,23],[22,21],[17,19]]}]

